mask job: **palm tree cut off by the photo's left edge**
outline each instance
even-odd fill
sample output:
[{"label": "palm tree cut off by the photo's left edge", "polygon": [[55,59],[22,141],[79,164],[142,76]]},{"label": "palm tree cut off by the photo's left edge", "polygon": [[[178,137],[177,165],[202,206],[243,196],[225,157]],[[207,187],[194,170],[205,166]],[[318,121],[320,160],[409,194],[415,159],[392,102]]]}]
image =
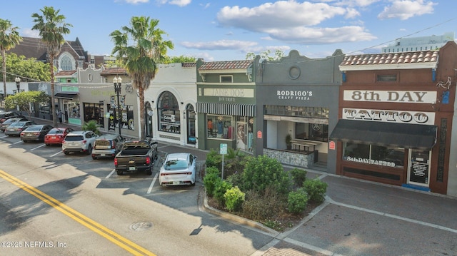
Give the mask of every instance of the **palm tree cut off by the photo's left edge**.
[{"label": "palm tree cut off by the photo's left edge", "polygon": [[1,60],[2,62],[2,71],[3,71],[3,90],[4,96],[6,97],[6,56],[5,51],[9,51],[11,48],[14,48],[16,44],[19,44],[22,41],[22,37],[19,36],[19,29],[17,26],[13,26],[11,21],[0,19],[0,51],[1,51]]}]

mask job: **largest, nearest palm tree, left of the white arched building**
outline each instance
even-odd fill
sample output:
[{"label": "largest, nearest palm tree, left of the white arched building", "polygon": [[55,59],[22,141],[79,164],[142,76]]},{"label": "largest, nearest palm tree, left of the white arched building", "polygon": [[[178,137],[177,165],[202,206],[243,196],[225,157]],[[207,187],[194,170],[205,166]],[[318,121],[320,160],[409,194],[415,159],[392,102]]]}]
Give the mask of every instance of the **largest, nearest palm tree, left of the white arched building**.
[{"label": "largest, nearest palm tree, left of the white arched building", "polygon": [[144,90],[156,77],[159,63],[166,59],[166,51],[174,48],[171,41],[162,38],[166,33],[157,28],[158,24],[157,19],[134,16],[130,20],[131,27],[123,26],[121,31],[109,34],[114,41],[112,54],[123,63],[132,79],[133,88],[139,91],[141,139],[146,137]]}]

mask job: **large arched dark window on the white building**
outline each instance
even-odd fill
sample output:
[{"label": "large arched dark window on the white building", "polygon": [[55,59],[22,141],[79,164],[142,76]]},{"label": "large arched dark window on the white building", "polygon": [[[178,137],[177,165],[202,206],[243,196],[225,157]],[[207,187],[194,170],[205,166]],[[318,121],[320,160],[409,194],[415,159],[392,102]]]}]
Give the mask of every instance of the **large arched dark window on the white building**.
[{"label": "large arched dark window on the white building", "polygon": [[159,130],[167,133],[181,133],[181,112],[173,93],[161,94],[157,111],[159,112]]}]

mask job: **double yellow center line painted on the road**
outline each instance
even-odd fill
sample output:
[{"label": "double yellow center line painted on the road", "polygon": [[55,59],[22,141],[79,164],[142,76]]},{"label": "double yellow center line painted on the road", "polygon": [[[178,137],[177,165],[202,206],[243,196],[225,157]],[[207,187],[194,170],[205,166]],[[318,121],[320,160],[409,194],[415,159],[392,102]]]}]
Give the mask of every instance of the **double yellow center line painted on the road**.
[{"label": "double yellow center line painted on the road", "polygon": [[89,217],[82,215],[81,213],[77,212],[73,208],[61,203],[59,200],[52,198],[46,193],[41,192],[34,188],[33,186],[24,183],[23,181],[15,178],[12,175],[0,170],[0,178],[4,178],[4,180],[9,181],[10,183],[16,185],[17,187],[21,188],[22,190],[34,195],[36,198],[39,198],[44,203],[51,205],[56,210],[59,210],[61,213],[71,217],[73,220],[76,220],[81,225],[88,227],[90,230],[96,232],[97,234],[105,237],[107,240],[113,242],[115,245],[124,248],[124,250],[130,252],[132,255],[154,255],[154,253],[146,250],[146,248],[137,245],[136,243],[132,242],[131,240],[122,237],[121,235],[117,234],[116,232],[109,230],[109,228],[104,227],[104,225],[99,224],[99,222],[95,222],[91,220]]}]

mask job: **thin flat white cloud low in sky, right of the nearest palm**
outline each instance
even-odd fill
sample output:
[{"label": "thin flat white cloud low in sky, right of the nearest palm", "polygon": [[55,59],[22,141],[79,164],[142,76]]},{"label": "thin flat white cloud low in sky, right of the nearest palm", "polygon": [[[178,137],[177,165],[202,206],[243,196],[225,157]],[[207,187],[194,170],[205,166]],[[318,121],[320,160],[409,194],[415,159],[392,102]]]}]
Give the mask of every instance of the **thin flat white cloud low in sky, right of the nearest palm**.
[{"label": "thin flat white cloud low in sky, right of the nearest palm", "polygon": [[186,48],[195,48],[200,50],[239,50],[251,46],[256,46],[258,43],[251,41],[219,40],[201,42],[183,41],[180,44]]}]

